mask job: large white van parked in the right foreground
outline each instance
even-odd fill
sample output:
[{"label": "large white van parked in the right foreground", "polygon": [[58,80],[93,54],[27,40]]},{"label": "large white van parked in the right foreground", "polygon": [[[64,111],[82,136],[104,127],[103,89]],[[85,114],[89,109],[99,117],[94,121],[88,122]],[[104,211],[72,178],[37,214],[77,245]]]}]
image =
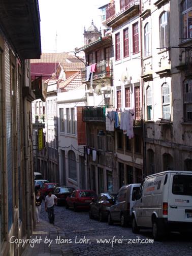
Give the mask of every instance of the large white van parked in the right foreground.
[{"label": "large white van parked in the right foreground", "polygon": [[169,231],[192,232],[192,172],[165,171],[141,183],[132,213],[132,231],[152,228],[154,240]]}]

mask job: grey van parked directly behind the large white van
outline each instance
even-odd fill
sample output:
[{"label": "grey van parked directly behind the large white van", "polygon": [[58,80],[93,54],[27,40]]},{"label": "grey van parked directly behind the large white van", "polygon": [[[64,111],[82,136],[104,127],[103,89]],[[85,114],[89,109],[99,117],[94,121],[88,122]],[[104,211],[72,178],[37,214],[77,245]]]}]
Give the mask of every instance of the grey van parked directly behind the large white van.
[{"label": "grey van parked directly behind the large white van", "polygon": [[133,195],[140,188],[139,183],[122,186],[117,195],[115,204],[109,208],[108,224],[120,222],[122,227],[126,227],[132,220],[132,209],[135,203]]}]

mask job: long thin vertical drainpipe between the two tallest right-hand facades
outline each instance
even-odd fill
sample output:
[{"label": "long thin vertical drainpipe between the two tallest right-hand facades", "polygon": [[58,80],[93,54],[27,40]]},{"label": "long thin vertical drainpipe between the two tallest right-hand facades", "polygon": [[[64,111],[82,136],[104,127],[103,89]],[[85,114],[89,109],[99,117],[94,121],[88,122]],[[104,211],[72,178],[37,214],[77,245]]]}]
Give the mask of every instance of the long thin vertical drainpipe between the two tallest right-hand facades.
[{"label": "long thin vertical drainpipe between the two tallest right-hand facades", "polygon": [[[141,0],[139,7],[139,14],[141,14]],[[141,45],[141,74],[143,74],[143,40],[142,40],[142,22],[140,18],[140,45]],[[145,97],[144,97],[144,83],[141,78],[141,94],[142,94],[142,119],[143,119],[143,176],[146,176],[146,144],[145,144]]]}]

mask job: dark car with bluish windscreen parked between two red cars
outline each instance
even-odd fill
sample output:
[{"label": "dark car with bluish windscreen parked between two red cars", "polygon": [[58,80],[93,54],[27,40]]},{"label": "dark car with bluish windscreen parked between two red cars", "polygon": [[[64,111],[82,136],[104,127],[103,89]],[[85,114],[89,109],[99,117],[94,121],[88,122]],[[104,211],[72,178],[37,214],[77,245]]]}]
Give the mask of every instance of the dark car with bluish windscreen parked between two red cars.
[{"label": "dark car with bluish windscreen parked between two red cars", "polygon": [[75,190],[74,187],[68,186],[59,186],[56,187],[53,191],[53,194],[57,197],[57,205],[66,204],[66,198],[70,196],[73,191]]}]

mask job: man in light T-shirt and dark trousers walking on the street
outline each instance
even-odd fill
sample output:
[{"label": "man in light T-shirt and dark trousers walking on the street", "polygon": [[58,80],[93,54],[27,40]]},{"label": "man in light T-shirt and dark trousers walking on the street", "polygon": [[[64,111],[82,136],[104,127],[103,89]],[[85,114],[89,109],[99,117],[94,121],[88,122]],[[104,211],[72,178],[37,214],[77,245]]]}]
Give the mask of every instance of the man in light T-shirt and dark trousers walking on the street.
[{"label": "man in light T-shirt and dark trousers walking on the street", "polygon": [[51,192],[45,197],[45,210],[48,213],[49,222],[54,224],[55,215],[54,215],[54,205],[57,202],[57,197],[52,195]]}]

